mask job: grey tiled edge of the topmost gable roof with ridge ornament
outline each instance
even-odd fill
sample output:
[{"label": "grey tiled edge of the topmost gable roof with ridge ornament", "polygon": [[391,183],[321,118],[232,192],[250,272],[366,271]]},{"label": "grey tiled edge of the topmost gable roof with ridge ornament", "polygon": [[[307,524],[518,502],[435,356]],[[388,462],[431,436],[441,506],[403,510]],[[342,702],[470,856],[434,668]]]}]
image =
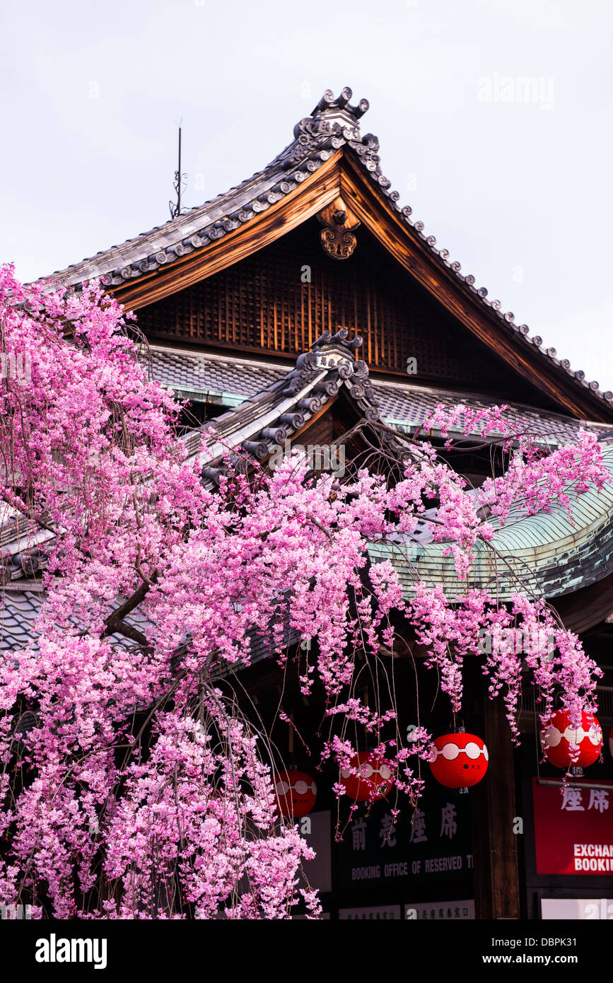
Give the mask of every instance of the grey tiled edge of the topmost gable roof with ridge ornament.
[{"label": "grey tiled edge of the topmost gable roof with ridge ornament", "polygon": [[57,270],[52,274],[52,281],[77,285],[102,277],[110,288],[138,281],[182,257],[197,253],[241,226],[249,225],[261,212],[294,192],[334,154],[348,154],[398,213],[407,234],[418,239],[477,304],[500,318],[523,344],[533,346],[544,362],[571,376],[594,396],[613,404],[613,392],[601,392],[596,381],[586,380],[581,370],[573,371],[568,359],[559,359],[555,348],[543,348],[542,338],[530,336],[527,324],[516,324],[511,312],[502,311],[500,301],[488,300],[486,288],[475,287],[474,276],[462,273],[460,263],[450,260],[446,249],[437,248],[435,237],[424,234],[423,222],[414,220],[409,205],[400,204],[399,193],[392,190],[391,182],[381,171],[377,138],[370,133],[361,134],[360,120],[368,109],[368,101],[361,99],[357,105],[352,105],[351,98],[349,87],[343,88],[338,97],[327,89],[310,116],[294,128],[294,140],[251,178],[134,239]]}]

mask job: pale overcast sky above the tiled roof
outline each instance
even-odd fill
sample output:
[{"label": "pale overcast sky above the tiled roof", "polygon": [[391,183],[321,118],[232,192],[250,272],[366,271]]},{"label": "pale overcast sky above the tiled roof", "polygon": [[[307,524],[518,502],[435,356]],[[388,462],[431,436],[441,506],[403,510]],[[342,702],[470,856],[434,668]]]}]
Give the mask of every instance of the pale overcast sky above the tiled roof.
[{"label": "pale overcast sky above the tiled roof", "polygon": [[[0,260],[33,279],[251,176],[325,88],[426,234],[613,389],[607,0],[29,0],[3,13]],[[531,80],[527,82],[527,80]]]}]

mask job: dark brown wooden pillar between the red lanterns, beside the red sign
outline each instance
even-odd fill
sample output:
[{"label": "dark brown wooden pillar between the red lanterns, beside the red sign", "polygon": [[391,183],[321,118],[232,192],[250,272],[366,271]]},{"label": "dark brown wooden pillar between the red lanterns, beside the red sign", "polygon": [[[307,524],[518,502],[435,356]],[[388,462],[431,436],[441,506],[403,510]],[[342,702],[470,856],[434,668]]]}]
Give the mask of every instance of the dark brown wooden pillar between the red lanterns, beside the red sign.
[{"label": "dark brown wooden pillar between the red lanterns, beside the red sign", "polygon": [[[483,690],[486,687],[483,686]],[[501,697],[482,697],[485,779],[471,789],[476,918],[519,918],[520,877],[511,731]]]}]

